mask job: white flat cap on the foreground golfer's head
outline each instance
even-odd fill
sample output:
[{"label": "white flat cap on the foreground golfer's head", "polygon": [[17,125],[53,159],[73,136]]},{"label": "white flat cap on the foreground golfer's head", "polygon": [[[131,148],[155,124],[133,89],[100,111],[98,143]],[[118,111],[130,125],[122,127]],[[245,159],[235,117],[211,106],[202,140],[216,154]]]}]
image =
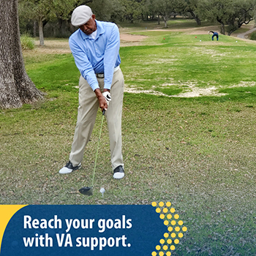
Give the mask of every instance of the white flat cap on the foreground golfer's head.
[{"label": "white flat cap on the foreground golfer's head", "polygon": [[73,26],[81,26],[91,18],[91,8],[87,5],[76,7],[72,13],[71,23]]}]

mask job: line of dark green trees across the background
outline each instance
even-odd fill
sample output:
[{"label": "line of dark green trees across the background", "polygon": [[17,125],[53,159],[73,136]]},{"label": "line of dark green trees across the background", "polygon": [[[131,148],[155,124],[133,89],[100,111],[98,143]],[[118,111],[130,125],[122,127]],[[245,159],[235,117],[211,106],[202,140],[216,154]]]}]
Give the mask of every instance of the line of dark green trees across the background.
[{"label": "line of dark green trees across the background", "polygon": [[181,15],[219,23],[222,34],[232,34],[255,17],[256,0],[19,0],[21,33],[46,37],[68,37],[75,30],[70,24],[72,10],[80,4],[91,7],[98,20],[115,23],[167,20]]}]

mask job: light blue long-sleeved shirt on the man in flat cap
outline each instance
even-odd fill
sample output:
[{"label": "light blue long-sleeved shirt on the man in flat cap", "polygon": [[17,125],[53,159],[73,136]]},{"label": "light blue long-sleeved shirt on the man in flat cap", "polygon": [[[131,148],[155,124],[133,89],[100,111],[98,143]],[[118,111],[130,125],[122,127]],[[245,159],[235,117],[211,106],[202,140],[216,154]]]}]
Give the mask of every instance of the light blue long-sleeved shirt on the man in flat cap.
[{"label": "light blue long-sleeved shirt on the man in flat cap", "polygon": [[113,71],[121,63],[119,56],[120,37],[115,23],[96,20],[95,39],[80,29],[69,37],[69,47],[75,64],[91,89],[99,88],[95,74],[104,73],[104,88],[110,89]]}]

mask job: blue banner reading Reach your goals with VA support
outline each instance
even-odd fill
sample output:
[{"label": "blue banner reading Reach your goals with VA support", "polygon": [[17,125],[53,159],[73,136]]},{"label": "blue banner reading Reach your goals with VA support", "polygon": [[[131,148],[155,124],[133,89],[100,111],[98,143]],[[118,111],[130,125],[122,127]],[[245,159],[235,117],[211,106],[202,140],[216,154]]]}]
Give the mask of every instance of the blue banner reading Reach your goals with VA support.
[{"label": "blue banner reading Reach your goals with VA support", "polygon": [[[174,244],[171,230],[175,225],[178,230],[182,228],[181,221],[178,227],[178,214],[171,215],[172,209],[164,203],[162,207],[157,203],[23,206],[5,228],[1,256],[168,255],[170,244]],[[176,232],[175,236],[180,234]]]}]

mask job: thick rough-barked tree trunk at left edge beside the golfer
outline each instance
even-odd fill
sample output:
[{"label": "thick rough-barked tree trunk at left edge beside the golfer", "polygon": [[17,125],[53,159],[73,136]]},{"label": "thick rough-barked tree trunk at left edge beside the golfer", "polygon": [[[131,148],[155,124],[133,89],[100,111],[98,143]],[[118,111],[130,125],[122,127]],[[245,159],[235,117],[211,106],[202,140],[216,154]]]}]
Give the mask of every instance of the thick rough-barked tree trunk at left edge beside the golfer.
[{"label": "thick rough-barked tree trunk at left edge beside the golfer", "polygon": [[20,108],[42,99],[42,92],[26,74],[23,63],[18,0],[0,0],[0,6],[0,108]]}]

